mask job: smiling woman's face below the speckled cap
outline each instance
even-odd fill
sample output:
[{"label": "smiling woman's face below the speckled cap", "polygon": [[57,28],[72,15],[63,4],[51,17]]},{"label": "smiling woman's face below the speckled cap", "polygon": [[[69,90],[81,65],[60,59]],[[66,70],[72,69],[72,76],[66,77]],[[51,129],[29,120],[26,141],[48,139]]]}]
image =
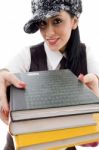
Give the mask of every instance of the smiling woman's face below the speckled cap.
[{"label": "smiling woman's face below the speckled cap", "polygon": [[78,19],[66,11],[40,22],[40,32],[51,50],[63,52],[71,36],[72,29],[78,25]]}]

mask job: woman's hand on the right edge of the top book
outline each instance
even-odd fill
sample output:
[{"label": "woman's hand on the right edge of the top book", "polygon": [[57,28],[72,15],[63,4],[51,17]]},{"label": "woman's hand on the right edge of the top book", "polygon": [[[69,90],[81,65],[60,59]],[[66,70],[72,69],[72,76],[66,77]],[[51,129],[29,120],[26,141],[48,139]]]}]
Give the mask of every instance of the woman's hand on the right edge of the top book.
[{"label": "woman's hand on the right edge of the top book", "polygon": [[78,79],[83,82],[88,88],[90,88],[93,93],[99,97],[99,79],[95,74],[80,74]]}]

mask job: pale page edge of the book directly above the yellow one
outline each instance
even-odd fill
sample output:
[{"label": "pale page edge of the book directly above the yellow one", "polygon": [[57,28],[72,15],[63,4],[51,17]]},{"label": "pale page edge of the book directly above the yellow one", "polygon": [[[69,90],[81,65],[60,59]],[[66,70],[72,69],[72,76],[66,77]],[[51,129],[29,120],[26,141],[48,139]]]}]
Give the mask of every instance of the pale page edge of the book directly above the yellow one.
[{"label": "pale page edge of the book directly above the yellow one", "polygon": [[10,122],[9,130],[12,135],[31,132],[58,130],[64,128],[75,128],[81,126],[96,125],[93,114],[72,115],[53,118],[24,120]]}]

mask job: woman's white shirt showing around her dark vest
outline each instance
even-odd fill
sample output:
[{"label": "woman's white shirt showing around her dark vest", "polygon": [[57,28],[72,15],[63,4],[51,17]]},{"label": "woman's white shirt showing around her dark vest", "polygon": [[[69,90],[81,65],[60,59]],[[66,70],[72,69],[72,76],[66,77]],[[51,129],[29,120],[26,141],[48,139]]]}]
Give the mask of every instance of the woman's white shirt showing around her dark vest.
[{"label": "woman's white shirt showing around her dark vest", "polygon": [[[60,67],[60,61],[63,54],[60,51],[53,51],[49,49],[46,43],[44,43],[45,52],[47,55],[48,70],[57,70]],[[88,73],[94,73],[99,75],[99,61],[93,56],[90,49],[86,49],[87,54],[87,68]],[[28,72],[31,64],[30,48],[26,47],[23,49],[9,64],[6,68],[14,73],[17,72]]]}]

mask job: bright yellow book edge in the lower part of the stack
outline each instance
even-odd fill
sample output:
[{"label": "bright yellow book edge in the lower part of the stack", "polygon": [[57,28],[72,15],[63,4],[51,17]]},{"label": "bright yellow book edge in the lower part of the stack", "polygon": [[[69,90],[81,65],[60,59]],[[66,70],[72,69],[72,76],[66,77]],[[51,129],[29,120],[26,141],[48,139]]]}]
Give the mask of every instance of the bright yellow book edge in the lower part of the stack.
[{"label": "bright yellow book edge in the lower part of the stack", "polygon": [[98,132],[99,127],[97,128],[97,126],[93,125],[62,130],[20,134],[14,136],[14,140],[16,147],[25,147],[33,144],[54,142],[58,140],[69,139]]}]

